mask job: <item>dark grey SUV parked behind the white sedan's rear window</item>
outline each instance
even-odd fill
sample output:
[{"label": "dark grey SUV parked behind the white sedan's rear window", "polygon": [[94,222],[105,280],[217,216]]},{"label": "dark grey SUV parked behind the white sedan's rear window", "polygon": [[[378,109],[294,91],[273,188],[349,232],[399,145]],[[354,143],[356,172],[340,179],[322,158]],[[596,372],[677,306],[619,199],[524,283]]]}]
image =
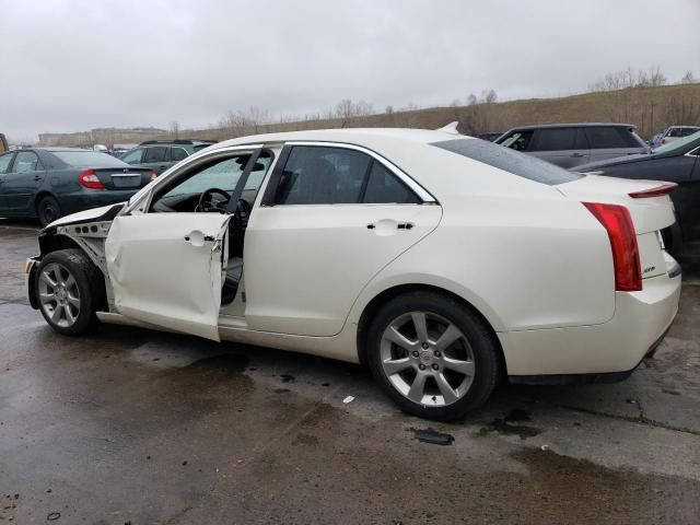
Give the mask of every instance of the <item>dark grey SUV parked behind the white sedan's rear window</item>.
[{"label": "dark grey SUV parked behind the white sedan's rear window", "polygon": [[630,124],[523,126],[506,131],[495,143],[562,167],[649,151]]}]

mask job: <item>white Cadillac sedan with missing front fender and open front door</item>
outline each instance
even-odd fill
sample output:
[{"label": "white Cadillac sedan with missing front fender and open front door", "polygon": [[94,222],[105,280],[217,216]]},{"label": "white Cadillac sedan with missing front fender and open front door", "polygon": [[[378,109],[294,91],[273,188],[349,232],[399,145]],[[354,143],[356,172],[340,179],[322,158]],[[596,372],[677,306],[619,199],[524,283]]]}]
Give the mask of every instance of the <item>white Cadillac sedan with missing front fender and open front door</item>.
[{"label": "white Cadillac sedan with missing front fender and open front door", "polygon": [[60,334],[98,319],[366,363],[407,412],[453,420],[501,378],[616,381],[655,349],[680,293],[673,187],[447,131],[244,137],[49,224],[28,295]]}]

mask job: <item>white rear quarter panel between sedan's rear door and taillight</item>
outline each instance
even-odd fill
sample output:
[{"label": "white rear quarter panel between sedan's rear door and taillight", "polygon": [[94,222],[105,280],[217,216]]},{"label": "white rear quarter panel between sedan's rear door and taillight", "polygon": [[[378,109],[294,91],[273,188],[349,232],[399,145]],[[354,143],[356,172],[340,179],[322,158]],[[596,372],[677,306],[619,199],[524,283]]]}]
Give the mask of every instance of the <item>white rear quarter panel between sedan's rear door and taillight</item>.
[{"label": "white rear quarter panel between sedan's rear door and taillight", "polygon": [[474,196],[444,209],[438,229],[368,285],[354,320],[376,294],[408,283],[464,298],[497,331],[595,325],[615,312],[607,234],[567,199]]}]

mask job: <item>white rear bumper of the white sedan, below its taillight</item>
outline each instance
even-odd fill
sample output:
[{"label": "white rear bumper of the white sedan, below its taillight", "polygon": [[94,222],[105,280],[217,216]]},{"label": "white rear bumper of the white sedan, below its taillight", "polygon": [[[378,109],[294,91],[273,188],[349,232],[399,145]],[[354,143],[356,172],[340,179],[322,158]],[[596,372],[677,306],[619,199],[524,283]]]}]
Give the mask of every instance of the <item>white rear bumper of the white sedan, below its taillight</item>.
[{"label": "white rear bumper of the white sedan, below its taillight", "polygon": [[[514,382],[518,382],[515,376],[564,374],[621,373],[623,378],[661,343],[679,299],[680,275],[664,275],[645,279],[640,292],[616,292],[615,315],[607,323],[501,332],[508,374]],[[539,380],[547,383],[545,377]]]}]

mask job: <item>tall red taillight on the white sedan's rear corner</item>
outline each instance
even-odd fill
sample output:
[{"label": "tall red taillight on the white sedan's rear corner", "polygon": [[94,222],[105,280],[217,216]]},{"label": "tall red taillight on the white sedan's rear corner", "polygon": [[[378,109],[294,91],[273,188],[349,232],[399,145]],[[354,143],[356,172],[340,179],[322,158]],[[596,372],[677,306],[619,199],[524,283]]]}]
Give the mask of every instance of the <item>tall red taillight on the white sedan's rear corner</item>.
[{"label": "tall red taillight on the white sedan's rear corner", "polygon": [[629,210],[619,205],[582,202],[608,232],[615,267],[615,290],[638,292],[642,289],[637,234]]}]

